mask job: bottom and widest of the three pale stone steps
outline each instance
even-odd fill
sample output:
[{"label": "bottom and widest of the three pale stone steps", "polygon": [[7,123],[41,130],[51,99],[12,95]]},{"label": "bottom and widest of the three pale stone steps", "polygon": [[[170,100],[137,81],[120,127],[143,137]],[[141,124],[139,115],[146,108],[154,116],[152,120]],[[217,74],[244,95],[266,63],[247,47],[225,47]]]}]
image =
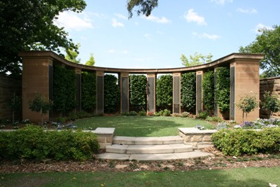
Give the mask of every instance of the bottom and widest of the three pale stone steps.
[{"label": "bottom and widest of the three pale stone steps", "polygon": [[102,153],[97,155],[99,159],[106,160],[180,160],[188,158],[200,158],[212,155],[200,150],[186,153],[160,153],[160,154],[125,154],[125,153]]}]

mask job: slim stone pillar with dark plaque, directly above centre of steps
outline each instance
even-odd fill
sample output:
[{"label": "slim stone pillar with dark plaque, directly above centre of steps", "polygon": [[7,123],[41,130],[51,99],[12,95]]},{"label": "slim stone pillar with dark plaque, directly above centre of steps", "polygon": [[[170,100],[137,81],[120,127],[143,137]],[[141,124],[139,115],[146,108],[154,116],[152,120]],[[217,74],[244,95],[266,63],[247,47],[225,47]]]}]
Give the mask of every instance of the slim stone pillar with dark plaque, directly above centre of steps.
[{"label": "slim stone pillar with dark plaque, directly above centre of steps", "polygon": [[155,113],[155,85],[157,74],[147,74],[147,113]]}]

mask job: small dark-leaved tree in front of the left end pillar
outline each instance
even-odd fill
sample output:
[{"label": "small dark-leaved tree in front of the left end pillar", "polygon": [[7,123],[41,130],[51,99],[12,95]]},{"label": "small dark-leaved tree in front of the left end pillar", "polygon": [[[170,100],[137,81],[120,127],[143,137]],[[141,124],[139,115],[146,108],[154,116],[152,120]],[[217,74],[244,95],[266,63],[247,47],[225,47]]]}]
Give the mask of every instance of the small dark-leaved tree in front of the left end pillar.
[{"label": "small dark-leaved tree in front of the left end pillar", "polygon": [[35,93],[35,97],[33,101],[29,101],[29,109],[31,111],[36,111],[41,113],[41,125],[43,125],[43,115],[50,111],[52,107],[52,102],[48,99],[46,99],[43,95],[40,93]]}]

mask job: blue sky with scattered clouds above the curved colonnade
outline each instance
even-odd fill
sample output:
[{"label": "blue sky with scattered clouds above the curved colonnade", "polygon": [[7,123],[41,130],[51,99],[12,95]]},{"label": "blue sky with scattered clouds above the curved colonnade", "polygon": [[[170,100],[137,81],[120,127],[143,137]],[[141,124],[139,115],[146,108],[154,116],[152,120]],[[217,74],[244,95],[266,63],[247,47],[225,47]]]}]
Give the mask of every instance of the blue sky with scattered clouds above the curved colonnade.
[{"label": "blue sky with scattered clouds above the curved colonnade", "polygon": [[82,13],[63,12],[55,24],[80,43],[80,62],[95,66],[183,67],[181,55],[238,53],[258,29],[280,25],[279,0],[158,0],[149,17],[128,19],[127,0],[85,0]]}]

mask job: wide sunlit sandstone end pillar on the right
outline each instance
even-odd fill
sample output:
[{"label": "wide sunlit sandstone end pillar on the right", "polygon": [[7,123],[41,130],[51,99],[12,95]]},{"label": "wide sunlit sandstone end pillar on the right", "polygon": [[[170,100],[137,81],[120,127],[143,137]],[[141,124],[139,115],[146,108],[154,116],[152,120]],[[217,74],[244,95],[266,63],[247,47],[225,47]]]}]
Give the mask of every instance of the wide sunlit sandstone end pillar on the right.
[{"label": "wide sunlit sandstone end pillar on the right", "polygon": [[[230,63],[230,120],[242,122],[242,111],[237,108],[242,97],[260,98],[259,59],[237,59]],[[259,108],[248,113],[247,120],[259,118]],[[246,120],[246,119],[244,119]]]}]

